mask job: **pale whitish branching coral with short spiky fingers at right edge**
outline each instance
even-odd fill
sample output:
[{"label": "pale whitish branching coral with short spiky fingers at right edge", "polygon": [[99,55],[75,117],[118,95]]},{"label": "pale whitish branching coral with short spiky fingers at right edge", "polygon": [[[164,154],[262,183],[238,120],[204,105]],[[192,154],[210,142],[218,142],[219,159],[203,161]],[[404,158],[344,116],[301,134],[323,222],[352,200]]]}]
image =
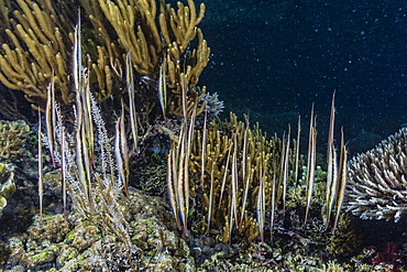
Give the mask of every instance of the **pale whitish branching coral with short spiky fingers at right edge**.
[{"label": "pale whitish branching coral with short spiky fingers at right edge", "polygon": [[407,129],[349,162],[346,210],[363,219],[394,219],[407,214]]}]

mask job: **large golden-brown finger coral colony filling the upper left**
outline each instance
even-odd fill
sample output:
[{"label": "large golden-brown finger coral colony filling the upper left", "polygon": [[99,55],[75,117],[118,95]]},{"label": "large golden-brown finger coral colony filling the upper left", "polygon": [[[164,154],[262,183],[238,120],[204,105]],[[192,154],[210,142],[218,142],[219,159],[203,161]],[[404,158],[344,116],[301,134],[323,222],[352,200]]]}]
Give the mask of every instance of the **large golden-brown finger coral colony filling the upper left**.
[{"label": "large golden-brown finger coral colony filling the upper left", "polygon": [[[158,80],[164,70],[168,87],[166,113],[182,116],[182,81],[187,86],[188,109],[199,102],[205,87],[197,91],[199,75],[209,61],[210,50],[197,26],[205,14],[194,1],[178,2],[177,9],[160,1],[107,0],[37,2],[18,0],[11,4],[1,1],[0,80],[10,89],[22,90],[34,107],[44,109],[46,87],[54,79],[57,100],[72,105],[75,90],[70,88],[74,33],[72,25],[81,10],[84,66],[90,68],[90,79],[97,88],[94,96],[105,101],[119,99],[127,89],[125,56],[138,72],[136,105],[145,122],[158,100],[157,84],[142,84],[142,78]],[[80,7],[80,8],[78,8]],[[70,30],[70,31],[69,31]],[[85,37],[85,39],[84,39]],[[197,47],[189,43],[197,39]],[[86,57],[85,57],[86,56]],[[153,87],[152,87],[153,86]],[[154,117],[150,117],[153,118]]]}]

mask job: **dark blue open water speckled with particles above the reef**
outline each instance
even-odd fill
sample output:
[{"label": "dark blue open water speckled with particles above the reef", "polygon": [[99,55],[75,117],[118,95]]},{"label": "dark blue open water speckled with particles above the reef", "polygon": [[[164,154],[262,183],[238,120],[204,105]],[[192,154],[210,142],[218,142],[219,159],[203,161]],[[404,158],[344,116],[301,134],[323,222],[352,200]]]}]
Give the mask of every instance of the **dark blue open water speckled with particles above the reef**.
[{"label": "dark blue open water speckled with particles above the reef", "polygon": [[324,130],[336,90],[348,139],[407,122],[406,1],[208,0],[207,9],[212,56],[200,84],[227,110],[306,116],[315,102]]}]

